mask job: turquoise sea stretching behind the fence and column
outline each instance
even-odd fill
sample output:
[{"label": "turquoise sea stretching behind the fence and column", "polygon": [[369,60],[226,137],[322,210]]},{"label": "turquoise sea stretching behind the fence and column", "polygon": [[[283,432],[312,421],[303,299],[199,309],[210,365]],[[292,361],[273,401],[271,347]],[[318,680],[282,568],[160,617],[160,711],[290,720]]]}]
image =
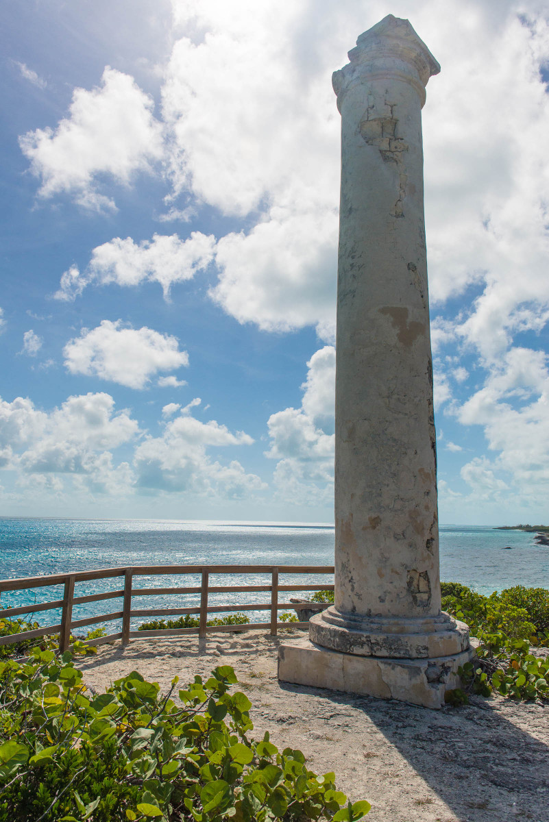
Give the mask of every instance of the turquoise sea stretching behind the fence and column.
[{"label": "turquoise sea stretching behind the fence and column", "polygon": [[[549,548],[534,535],[467,525],[441,527],[441,580],[461,582],[480,593],[524,584],[549,588]],[[505,550],[510,546],[512,550]],[[333,565],[334,529],[315,524],[234,524],[181,520],[56,520],[0,518],[0,579],[137,565]],[[282,580],[281,580],[282,581]],[[296,584],[331,581],[327,576],[293,575]],[[265,575],[238,580],[215,575],[210,584],[268,584]],[[191,576],[142,576],[135,587],[196,585]],[[116,590],[120,578],[77,584],[76,596]],[[298,594],[290,594],[296,596]],[[281,597],[283,595],[281,594]],[[284,595],[288,596],[288,595]],[[2,606],[22,606],[62,598],[62,586],[2,593]],[[254,603],[268,593],[212,594],[210,603]],[[195,595],[140,597],[134,608],[187,607]],[[120,599],[75,608],[73,618],[120,610]],[[253,618],[266,618],[258,613]],[[58,612],[38,615],[56,623]],[[118,630],[113,623],[113,630]]]}]

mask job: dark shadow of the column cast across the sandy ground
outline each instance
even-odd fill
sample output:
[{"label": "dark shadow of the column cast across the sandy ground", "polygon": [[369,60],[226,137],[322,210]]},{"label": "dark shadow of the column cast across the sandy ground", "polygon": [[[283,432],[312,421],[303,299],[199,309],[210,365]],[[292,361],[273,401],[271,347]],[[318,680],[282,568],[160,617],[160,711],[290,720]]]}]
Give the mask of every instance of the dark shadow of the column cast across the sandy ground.
[{"label": "dark shadow of the column cast across the sandy ground", "polygon": [[547,733],[549,704],[473,696],[469,705],[436,711],[287,682],[280,687],[349,706],[358,723],[362,714],[461,822],[549,820],[549,746],[526,730],[545,726]]}]

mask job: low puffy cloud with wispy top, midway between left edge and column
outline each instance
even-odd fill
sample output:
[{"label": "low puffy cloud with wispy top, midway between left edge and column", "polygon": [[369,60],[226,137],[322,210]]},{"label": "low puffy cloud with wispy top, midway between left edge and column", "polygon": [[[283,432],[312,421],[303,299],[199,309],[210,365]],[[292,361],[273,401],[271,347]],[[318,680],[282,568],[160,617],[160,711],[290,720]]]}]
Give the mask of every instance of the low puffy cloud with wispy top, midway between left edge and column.
[{"label": "low puffy cloud with wispy top, midway between left edge and column", "polygon": [[[223,465],[208,454],[210,448],[249,446],[253,442],[251,436],[230,432],[215,420],[201,423],[191,416],[191,408],[197,404],[200,399],[192,400],[177,418],[166,423],[162,436],[148,436],[137,446],[133,463],[136,486],[228,499],[241,499],[264,490],[261,478],[246,473],[237,460]],[[172,416],[176,410],[171,406],[165,409],[165,416]]]}]

